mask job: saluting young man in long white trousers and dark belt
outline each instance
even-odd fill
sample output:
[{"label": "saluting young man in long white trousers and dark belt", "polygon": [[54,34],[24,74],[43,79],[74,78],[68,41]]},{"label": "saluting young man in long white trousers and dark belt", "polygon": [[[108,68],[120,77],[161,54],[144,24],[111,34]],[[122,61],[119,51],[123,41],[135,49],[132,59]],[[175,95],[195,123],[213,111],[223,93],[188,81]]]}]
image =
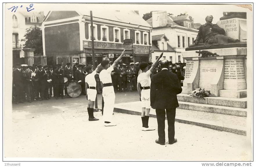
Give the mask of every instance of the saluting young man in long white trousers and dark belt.
[{"label": "saluting young man in long white trousers and dark belt", "polygon": [[111,79],[111,71],[114,70],[116,64],[121,60],[124,55],[125,50],[123,50],[122,54],[114,61],[114,63],[110,66],[109,60],[103,60],[101,65],[103,70],[100,72],[100,81],[103,84],[102,96],[104,98],[104,125],[105,126],[116,126],[112,122],[114,104],[115,104],[115,92]]}]

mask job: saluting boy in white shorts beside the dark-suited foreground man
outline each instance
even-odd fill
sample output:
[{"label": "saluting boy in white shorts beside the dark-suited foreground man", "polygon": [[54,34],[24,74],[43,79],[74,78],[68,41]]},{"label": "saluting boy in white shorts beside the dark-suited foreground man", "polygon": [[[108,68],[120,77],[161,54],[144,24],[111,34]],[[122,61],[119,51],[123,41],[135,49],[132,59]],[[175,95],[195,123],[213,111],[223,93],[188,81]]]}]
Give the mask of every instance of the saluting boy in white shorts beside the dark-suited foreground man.
[{"label": "saluting boy in white shorts beside the dark-suited foreground man", "polygon": [[137,90],[140,95],[141,101],[141,120],[142,120],[142,129],[143,131],[152,131],[154,128],[149,128],[148,120],[149,120],[149,112],[150,112],[150,85],[151,79],[150,74],[152,73],[155,66],[158,64],[159,59],[163,56],[163,52],[156,59],[156,61],[152,64],[152,67],[148,70],[148,64],[146,62],[140,63],[141,73],[137,78]]}]

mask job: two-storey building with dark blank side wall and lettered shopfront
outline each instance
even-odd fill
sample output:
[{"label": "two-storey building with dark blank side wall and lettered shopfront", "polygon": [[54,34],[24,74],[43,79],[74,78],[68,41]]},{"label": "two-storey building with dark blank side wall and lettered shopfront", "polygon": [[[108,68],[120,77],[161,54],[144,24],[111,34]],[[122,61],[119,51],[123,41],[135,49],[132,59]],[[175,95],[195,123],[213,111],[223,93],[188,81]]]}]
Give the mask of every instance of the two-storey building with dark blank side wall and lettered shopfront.
[{"label": "two-storey building with dark blank side wall and lettered shopfront", "polygon": [[[89,11],[86,11],[89,13]],[[133,19],[130,19],[133,18]],[[126,49],[122,63],[149,61],[151,26],[136,12],[93,11],[93,25],[84,11],[50,11],[42,24],[43,50],[47,64],[67,62],[92,65],[91,26],[95,63],[109,57],[114,61]],[[124,45],[132,39],[132,45]]]}]

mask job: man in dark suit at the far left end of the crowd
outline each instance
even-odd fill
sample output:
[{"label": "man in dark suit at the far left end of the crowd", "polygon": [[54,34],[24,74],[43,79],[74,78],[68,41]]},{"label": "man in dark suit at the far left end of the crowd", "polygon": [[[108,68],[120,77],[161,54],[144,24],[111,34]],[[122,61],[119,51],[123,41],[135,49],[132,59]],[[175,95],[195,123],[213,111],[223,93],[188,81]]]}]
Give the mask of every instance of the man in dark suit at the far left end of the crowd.
[{"label": "man in dark suit at the far left end of the crowd", "polygon": [[24,100],[22,98],[24,77],[21,69],[21,64],[17,63],[16,67],[17,69],[15,69],[12,72],[12,80],[13,80],[13,85],[15,87],[15,93],[16,93],[15,104],[19,104],[19,103],[24,103]]}]

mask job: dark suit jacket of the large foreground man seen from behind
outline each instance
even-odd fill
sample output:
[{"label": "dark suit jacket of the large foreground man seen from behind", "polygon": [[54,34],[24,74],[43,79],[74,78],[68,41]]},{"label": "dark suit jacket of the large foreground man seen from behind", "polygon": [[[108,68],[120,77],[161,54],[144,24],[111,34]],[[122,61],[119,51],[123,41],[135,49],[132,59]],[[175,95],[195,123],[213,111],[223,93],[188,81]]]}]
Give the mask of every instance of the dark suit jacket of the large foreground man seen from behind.
[{"label": "dark suit jacket of the large foreground man seen from behind", "polygon": [[179,107],[177,94],[182,88],[176,74],[167,69],[155,74],[150,87],[150,105],[154,109],[169,109]]}]

